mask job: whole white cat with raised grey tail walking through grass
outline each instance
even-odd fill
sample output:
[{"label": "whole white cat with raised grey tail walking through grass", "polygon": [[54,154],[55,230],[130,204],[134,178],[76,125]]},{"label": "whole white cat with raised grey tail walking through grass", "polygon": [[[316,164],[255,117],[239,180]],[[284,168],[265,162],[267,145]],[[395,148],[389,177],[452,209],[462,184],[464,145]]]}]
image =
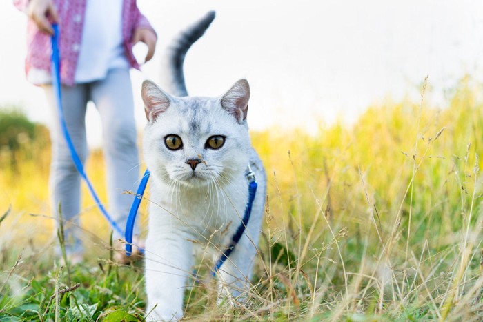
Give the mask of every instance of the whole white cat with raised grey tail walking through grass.
[{"label": "whole white cat with raised grey tail walking through grass", "polygon": [[216,274],[220,299],[244,301],[250,288],[266,198],[266,174],[246,121],[250,87],[241,79],[221,97],[187,97],[184,83],[184,56],[214,18],[208,12],[170,47],[171,94],[152,81],[142,85],[143,153],[152,178],[145,263],[150,319],[182,318],[195,245],[209,245],[214,259],[229,245],[247,207],[248,166],[258,183],[251,217]]}]

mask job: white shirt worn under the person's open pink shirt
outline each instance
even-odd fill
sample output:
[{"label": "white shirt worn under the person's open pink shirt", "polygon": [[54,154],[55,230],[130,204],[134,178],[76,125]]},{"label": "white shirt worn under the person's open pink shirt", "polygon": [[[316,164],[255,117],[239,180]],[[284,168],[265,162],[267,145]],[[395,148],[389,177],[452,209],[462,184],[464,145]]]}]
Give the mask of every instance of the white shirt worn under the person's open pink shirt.
[{"label": "white shirt worn under the person's open pink shirt", "polygon": [[87,0],[76,83],[106,77],[112,68],[129,68],[122,41],[122,0]]}]

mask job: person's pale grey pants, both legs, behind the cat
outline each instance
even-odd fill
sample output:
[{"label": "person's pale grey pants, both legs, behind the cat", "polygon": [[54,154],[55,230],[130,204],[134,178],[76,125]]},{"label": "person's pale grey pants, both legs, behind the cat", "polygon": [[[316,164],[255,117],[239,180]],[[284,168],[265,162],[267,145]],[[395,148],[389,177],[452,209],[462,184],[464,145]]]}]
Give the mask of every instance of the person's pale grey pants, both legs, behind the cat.
[{"label": "person's pale grey pants, both legs, behind the cat", "polygon": [[[51,85],[44,86],[52,106],[54,122],[50,129],[52,162],[50,165],[50,194],[55,216],[59,205],[66,221],[66,248],[68,252],[83,252],[79,239],[81,177],[70,156],[63,137],[57,112],[57,101]],[[108,212],[124,230],[135,192],[139,183],[139,158],[136,146],[134,103],[129,71],[113,69],[105,79],[92,83],[62,86],[63,114],[68,132],[82,163],[88,155],[86,141],[86,105],[92,101],[101,116],[103,152],[106,160]],[[99,212],[99,216],[101,216]],[[135,234],[139,228],[135,226]],[[115,232],[115,237],[119,234]]]}]

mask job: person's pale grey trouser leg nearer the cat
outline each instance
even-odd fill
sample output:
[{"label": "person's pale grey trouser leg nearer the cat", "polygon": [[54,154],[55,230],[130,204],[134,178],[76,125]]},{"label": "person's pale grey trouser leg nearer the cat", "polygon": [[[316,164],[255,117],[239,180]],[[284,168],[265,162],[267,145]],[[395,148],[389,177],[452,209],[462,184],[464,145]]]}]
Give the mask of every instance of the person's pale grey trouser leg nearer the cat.
[{"label": "person's pale grey trouser leg nearer the cat", "polygon": [[[121,68],[110,70],[106,79],[92,83],[91,94],[101,115],[110,214],[124,230],[134,199],[132,194],[124,191],[136,192],[139,183],[137,133],[129,71]],[[134,234],[139,234],[137,223]],[[121,236],[115,232],[115,237]]]}]

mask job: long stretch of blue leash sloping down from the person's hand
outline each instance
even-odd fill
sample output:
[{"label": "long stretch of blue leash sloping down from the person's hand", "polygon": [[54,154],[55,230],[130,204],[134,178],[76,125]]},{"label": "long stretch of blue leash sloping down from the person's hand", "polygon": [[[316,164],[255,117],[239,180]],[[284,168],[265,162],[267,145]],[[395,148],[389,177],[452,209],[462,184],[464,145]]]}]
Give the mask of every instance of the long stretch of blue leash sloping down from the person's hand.
[{"label": "long stretch of blue leash sloping down from the person's hand", "polygon": [[70,150],[70,155],[72,156],[72,161],[74,161],[75,168],[77,168],[77,171],[79,171],[79,174],[81,175],[83,181],[86,182],[90,194],[92,195],[92,198],[95,200],[97,203],[97,207],[99,207],[99,210],[101,210],[102,214],[104,217],[106,217],[107,221],[110,223],[112,228],[116,230],[119,234],[123,235],[124,232],[119,228],[119,225],[112,220],[108,212],[106,211],[106,208],[104,208],[103,204],[101,203],[101,200],[99,197],[97,197],[97,194],[92,187],[92,184],[90,183],[89,178],[87,177],[86,172],[84,171],[81,159],[79,158],[79,155],[75,151],[74,144],[72,143],[72,139],[70,139],[69,132],[67,130],[67,125],[66,125],[66,120],[63,117],[63,106],[62,106],[62,96],[61,96],[61,80],[60,80],[60,51],[59,51],[59,26],[57,24],[52,25],[52,28],[54,28],[54,35],[52,36],[52,85],[54,86],[55,94],[56,94],[56,99],[57,99],[57,108],[59,110],[59,119],[61,123],[61,128],[63,132],[63,137],[66,139],[66,143],[69,147]]}]

